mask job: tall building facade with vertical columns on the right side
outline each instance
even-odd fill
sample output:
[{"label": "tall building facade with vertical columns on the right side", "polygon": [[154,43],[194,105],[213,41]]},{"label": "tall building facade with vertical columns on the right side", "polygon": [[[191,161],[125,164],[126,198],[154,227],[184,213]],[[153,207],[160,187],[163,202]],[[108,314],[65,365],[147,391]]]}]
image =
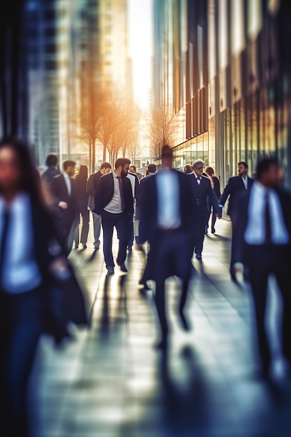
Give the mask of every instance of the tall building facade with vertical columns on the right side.
[{"label": "tall building facade with vertical columns on the right side", "polygon": [[155,99],[176,114],[176,167],[202,158],[225,186],[239,161],[253,174],[275,155],[291,186],[290,2],[156,0],[154,17]]}]

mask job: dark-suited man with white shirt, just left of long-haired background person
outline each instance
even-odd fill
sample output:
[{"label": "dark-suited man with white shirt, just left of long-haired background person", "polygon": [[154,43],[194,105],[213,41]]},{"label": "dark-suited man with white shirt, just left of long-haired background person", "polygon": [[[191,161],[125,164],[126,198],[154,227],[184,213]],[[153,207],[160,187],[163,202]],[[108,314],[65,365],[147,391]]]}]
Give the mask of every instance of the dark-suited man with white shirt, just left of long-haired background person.
[{"label": "dark-suited man with white shirt, just left of long-haired background person", "polygon": [[73,246],[74,225],[78,218],[77,184],[73,178],[75,161],[64,161],[63,172],[52,181],[52,213],[59,232],[59,237],[67,254]]}]

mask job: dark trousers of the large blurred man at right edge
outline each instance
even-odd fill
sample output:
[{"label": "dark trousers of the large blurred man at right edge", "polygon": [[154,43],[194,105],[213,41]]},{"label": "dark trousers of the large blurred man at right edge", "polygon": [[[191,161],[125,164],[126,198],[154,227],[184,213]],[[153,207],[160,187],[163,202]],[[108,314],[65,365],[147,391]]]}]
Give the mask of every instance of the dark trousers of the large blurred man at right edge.
[{"label": "dark trousers of the large blurred man at right edge", "polygon": [[267,368],[271,353],[265,329],[267,283],[270,274],[276,277],[283,298],[282,346],[291,364],[291,275],[290,249],[286,246],[247,246],[248,279],[255,304],[255,321],[262,364]]}]

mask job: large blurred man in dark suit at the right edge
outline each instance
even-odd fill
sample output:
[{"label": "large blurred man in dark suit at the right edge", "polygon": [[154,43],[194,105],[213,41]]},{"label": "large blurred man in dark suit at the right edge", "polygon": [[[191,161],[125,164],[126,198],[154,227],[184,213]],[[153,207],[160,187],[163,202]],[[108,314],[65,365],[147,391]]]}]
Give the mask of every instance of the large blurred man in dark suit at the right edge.
[{"label": "large blurred man in dark suit at the right edge", "polygon": [[[276,277],[283,298],[282,346],[291,364],[291,195],[281,188],[283,172],[274,158],[258,163],[257,181],[234,205],[234,271],[245,270],[255,306],[262,376],[269,376],[271,353],[265,327],[267,281]],[[289,369],[290,370],[290,369]]]}]

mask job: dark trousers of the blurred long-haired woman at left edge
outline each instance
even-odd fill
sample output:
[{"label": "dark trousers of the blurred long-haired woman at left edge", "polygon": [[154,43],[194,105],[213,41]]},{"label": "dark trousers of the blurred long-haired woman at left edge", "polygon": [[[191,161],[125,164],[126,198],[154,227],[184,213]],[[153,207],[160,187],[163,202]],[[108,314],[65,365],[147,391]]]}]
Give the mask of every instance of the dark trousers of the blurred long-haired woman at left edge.
[{"label": "dark trousers of the blurred long-haired woman at left edge", "polygon": [[28,437],[27,384],[43,331],[41,290],[0,292],[0,435]]}]

